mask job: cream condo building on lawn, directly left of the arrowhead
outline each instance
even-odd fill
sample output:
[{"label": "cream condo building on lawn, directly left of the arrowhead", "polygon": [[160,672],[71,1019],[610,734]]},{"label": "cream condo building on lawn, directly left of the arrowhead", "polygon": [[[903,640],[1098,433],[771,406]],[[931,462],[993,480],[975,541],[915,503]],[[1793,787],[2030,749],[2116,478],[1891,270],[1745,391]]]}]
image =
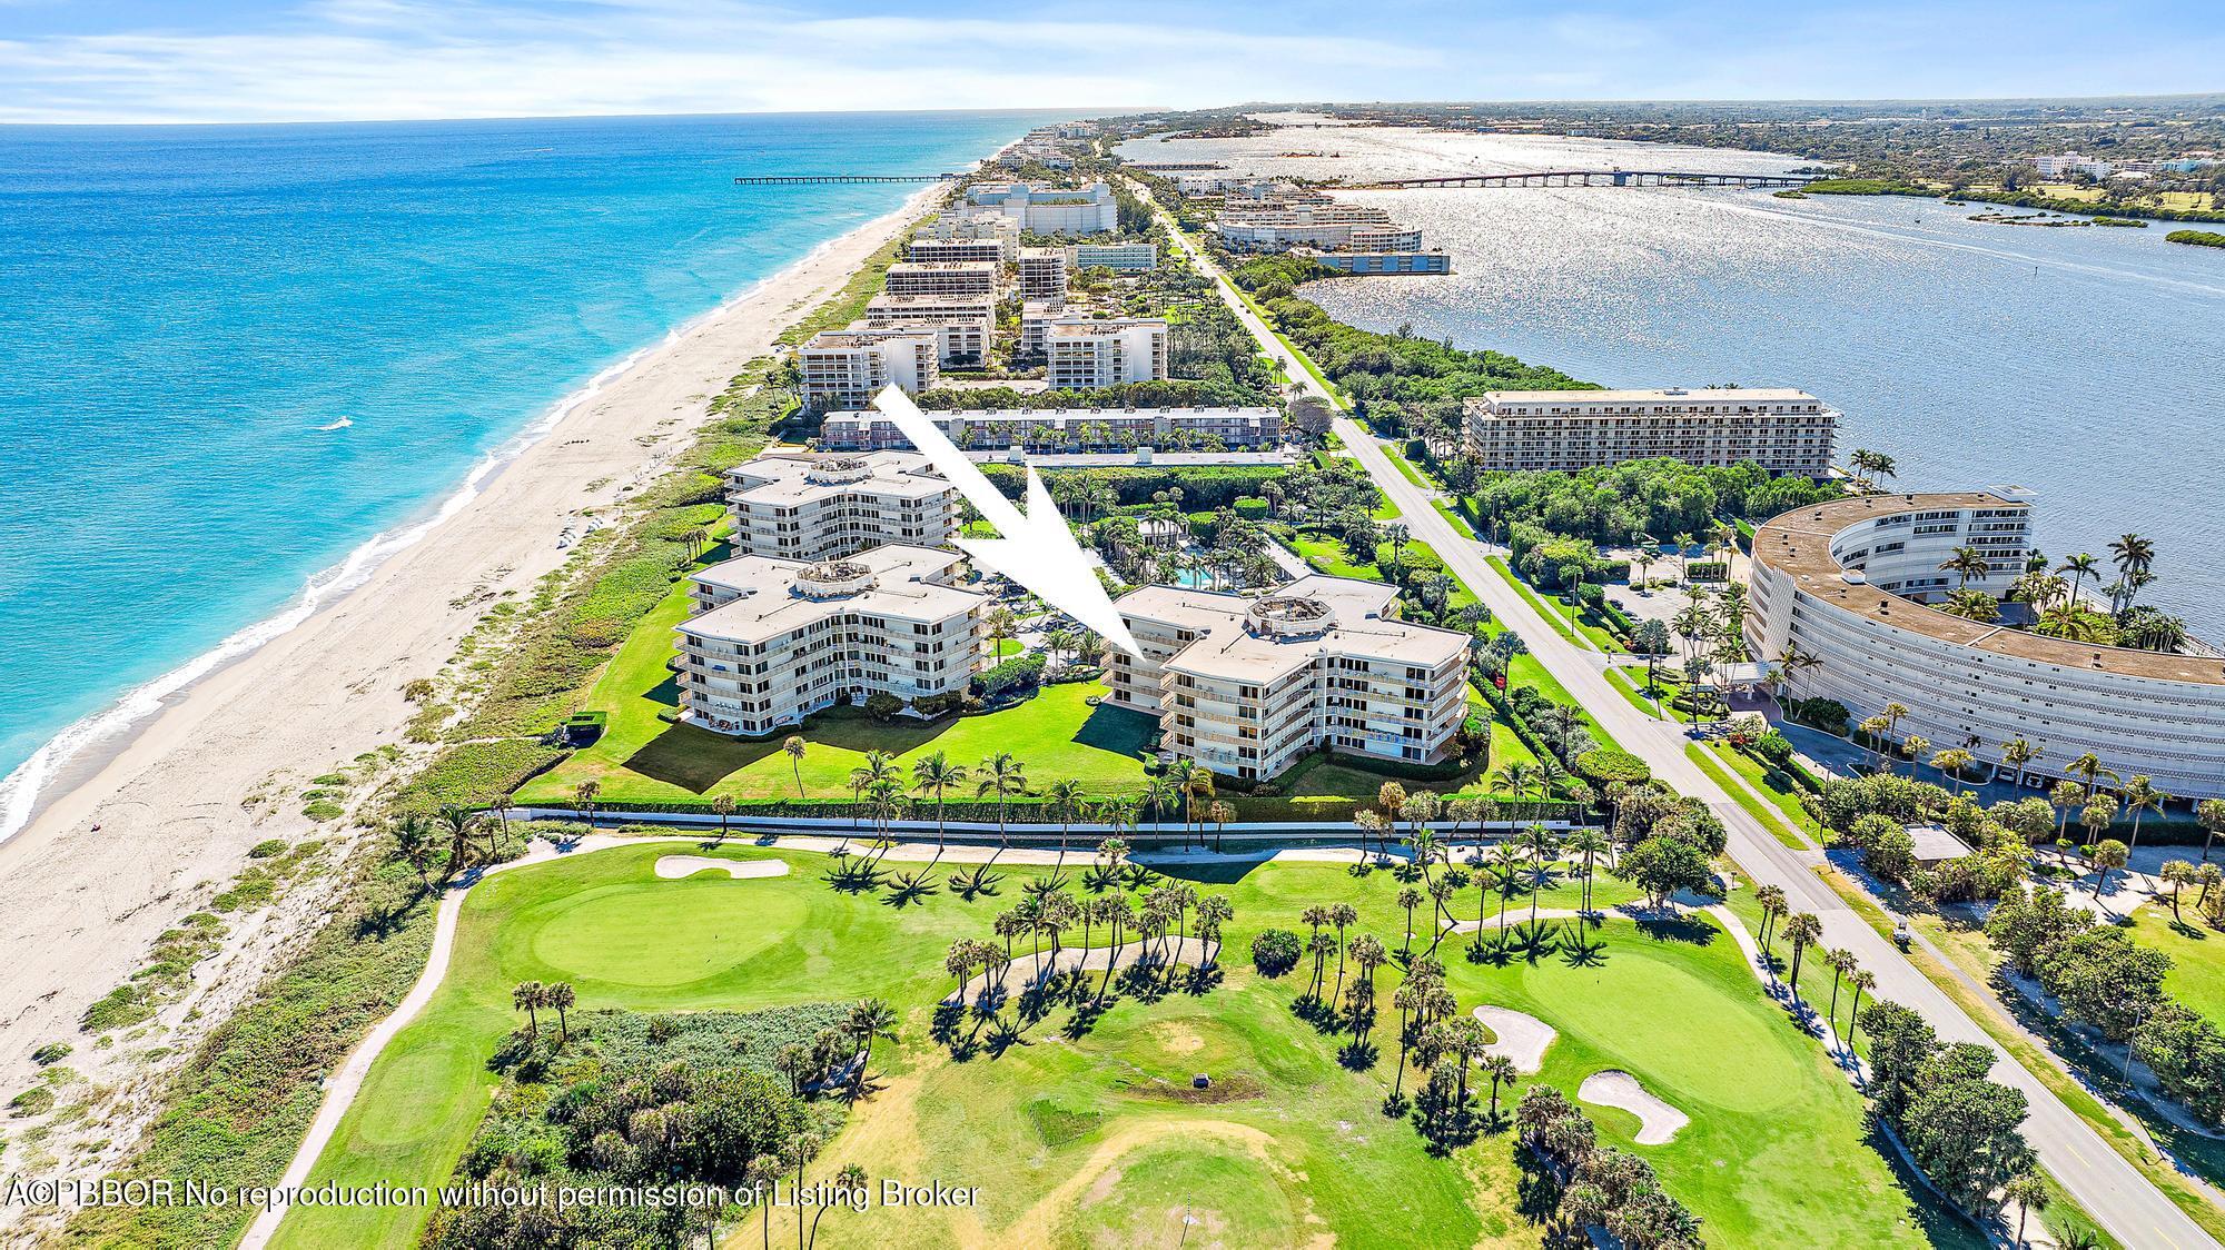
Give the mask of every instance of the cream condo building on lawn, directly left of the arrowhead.
[{"label": "cream condo building on lawn, directly left of the arrowhead", "polygon": [[756,736],[841,698],[961,694],[988,596],[961,589],[959,572],[952,552],[874,547],[819,563],[741,556],[694,574],[696,616],[674,627],[681,721]]}]

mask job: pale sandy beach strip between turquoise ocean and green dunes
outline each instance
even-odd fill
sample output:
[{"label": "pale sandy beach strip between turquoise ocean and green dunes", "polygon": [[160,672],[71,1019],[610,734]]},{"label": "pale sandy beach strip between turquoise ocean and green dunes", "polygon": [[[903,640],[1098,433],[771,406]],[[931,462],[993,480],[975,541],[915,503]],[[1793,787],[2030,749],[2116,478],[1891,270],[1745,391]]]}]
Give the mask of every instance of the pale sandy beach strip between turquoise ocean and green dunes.
[{"label": "pale sandy beach strip between turquoise ocean and green dunes", "polygon": [[[556,536],[578,523],[583,507],[614,503],[683,449],[705,400],[745,360],[941,194],[923,189],[903,211],[830,242],[641,356],[421,543],[174,698],[113,758],[47,796],[27,827],[0,843],[0,1090],[24,1088],[33,1079],[29,1052],[51,1041],[76,1043],[71,1065],[91,1079],[122,1081],[120,1070],[102,1070],[116,1065],[116,1052],[102,1056],[78,1034],[85,1008],[142,965],[165,927],[205,905],[251,845],[343,834],[345,825],[318,825],[298,812],[309,778],[400,743],[414,710],[403,683],[434,676],[496,596],[527,596],[567,556]],[[249,810],[256,792],[278,801]],[[291,912],[300,930],[318,907],[312,901]],[[196,979],[225,983],[202,999],[205,1016],[267,972],[287,919],[234,923],[258,930],[256,941],[227,952],[214,976]],[[182,1005],[162,1021],[180,1014]],[[151,1077],[151,1068],[131,1068],[134,1085]]]}]

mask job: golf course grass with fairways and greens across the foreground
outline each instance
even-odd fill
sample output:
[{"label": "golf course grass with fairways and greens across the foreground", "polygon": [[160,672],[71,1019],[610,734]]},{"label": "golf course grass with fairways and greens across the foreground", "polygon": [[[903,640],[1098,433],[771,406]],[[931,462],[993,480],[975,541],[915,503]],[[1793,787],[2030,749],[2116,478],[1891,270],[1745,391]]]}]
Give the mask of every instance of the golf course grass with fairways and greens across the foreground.
[{"label": "golf course grass with fairways and greens across the foreground", "polygon": [[[578,1008],[756,1010],[801,1001],[888,999],[901,1041],[877,1052],[879,1090],[850,1114],[819,1170],[981,1183],[983,1206],[837,1214],[834,1246],[1026,1243],[1128,1246],[1199,1237],[1244,1246],[1535,1246],[1520,1208],[1509,1132],[1431,1157],[1411,1125],[1386,1121],[1388,1054],[1364,1072],[1337,1063],[1339,1039],[1302,1023],[1293,976],[1259,979],[1244,956],[1264,925],[1295,925],[1313,903],[1351,901],[1359,930],[1404,941],[1400,883],[1317,863],[1217,863],[1181,870],[1235,905],[1226,981],[1157,1003],[1117,1001],[1079,1036],[1064,1012],[1001,1056],[952,1061],[928,1039],[948,990],[941,952],[981,936],[1019,896],[939,892],[912,907],[843,894],[821,856],[783,859],[790,876],[659,881],[663,854],[641,845],[507,872],[465,903],[456,956],[425,1014],[374,1065],[314,1181],[438,1183],[449,1177],[494,1090],[485,1056],[516,1023],[510,985],[570,981]],[[1600,883],[1600,901],[1620,896]],[[1544,905],[1573,901],[1560,876]],[[1464,890],[1462,914],[1477,901]],[[1520,907],[1520,901],[1515,903]],[[1633,1072],[1693,1123],[1678,1141],[1635,1148],[1707,1221],[1718,1246],[1922,1246],[1918,1212],[1862,1139],[1860,1101],[1762,999],[1711,925],[1642,934],[1609,921],[1604,961],[1506,968],[1451,952],[1464,1008],[1502,1003],[1546,1019],[1560,1041],[1542,1079],[1571,1094],[1602,1068]],[[1101,941],[1101,936],[1099,936]],[[1380,974],[1388,1001],[1395,965]],[[1377,1041],[1388,1036],[1377,1034]],[[1193,1072],[1217,1094],[1197,1099]],[[1511,1092],[1509,1092],[1511,1097]],[[1602,1139],[1629,1145],[1635,1121],[1586,1108]],[[409,1246],[429,1217],[409,1208],[300,1208],[283,1246]],[[736,1243],[756,1243],[741,1230]],[[774,1230],[779,1234],[779,1230]]]}]

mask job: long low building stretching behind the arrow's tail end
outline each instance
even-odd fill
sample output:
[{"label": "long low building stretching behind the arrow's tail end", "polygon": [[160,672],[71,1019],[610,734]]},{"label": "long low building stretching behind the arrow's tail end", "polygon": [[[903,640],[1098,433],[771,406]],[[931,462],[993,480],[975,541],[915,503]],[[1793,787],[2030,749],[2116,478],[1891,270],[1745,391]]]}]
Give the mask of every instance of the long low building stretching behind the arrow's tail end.
[{"label": "long low building stretching behind the arrow's tail end", "polygon": [[[966,407],[928,418],[968,449],[1041,447],[1052,452],[1128,452],[1135,447],[1277,447],[1282,409],[1273,407]],[[879,452],[910,447],[897,423],[874,409],[830,411],[819,445]]]}]

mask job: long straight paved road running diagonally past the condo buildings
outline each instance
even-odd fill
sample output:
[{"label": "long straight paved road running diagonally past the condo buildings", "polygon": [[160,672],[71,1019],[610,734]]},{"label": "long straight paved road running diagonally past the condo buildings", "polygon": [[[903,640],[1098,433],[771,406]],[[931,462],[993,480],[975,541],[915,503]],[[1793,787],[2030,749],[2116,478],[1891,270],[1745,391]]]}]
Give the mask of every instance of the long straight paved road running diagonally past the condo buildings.
[{"label": "long straight paved road running diagonally past the condo buildings", "polygon": [[[1168,220],[1173,231],[1173,222]],[[1222,298],[1237,318],[1253,331],[1262,349],[1284,363],[1299,389],[1335,403],[1306,371],[1257,314],[1237,298],[1226,276],[1184,234],[1175,231],[1175,242],[1190,254],[1222,285]],[[1482,549],[1462,538],[1453,525],[1431,505],[1431,492],[1415,487],[1391,465],[1375,436],[1351,418],[1337,418],[1337,436],[1355,460],[1375,478],[1386,496],[1400,507],[1400,520],[1422,543],[1428,543],[1444,563],[1460,576],[1491,612],[1511,629],[1520,632],[1529,649],[1586,712],[1624,750],[1646,761],[1655,776],[1667,778],[1682,794],[1702,798],[1722,816],[1731,832],[1731,859],[1760,885],[1778,885],[1796,912],[1813,912],[1822,921],[1824,945],[1842,948],[1860,959],[1878,979],[1878,996],[1891,999],[1916,1012],[1938,1030],[1942,1041],[1976,1041],[1998,1054],[1994,1079],[2025,1092],[2031,1117],[2025,1121],[2025,1137],[2040,1154],[2045,1168],[2063,1183],[2071,1197],[2125,1246],[2167,1246],[2192,1250],[2196,1246],[2216,1248],[2218,1241],[2203,1232],[2180,1212],[2156,1185],[2132,1163],[2109,1148],[2076,1112],[2047,1090],[2029,1070],[2000,1050],[1994,1039],[1978,1028],[1960,1005],[1911,965],[1887,939],[1862,921],[1829,883],[1818,879],[1824,859],[1818,852],[1796,852],[1780,843],[1760,821],[1713,783],[1691,758],[1684,745],[1691,741],[1682,725],[1655,721],[1615,692],[1602,676],[1598,658],[1553,632],[1495,569],[1484,563]]]}]

